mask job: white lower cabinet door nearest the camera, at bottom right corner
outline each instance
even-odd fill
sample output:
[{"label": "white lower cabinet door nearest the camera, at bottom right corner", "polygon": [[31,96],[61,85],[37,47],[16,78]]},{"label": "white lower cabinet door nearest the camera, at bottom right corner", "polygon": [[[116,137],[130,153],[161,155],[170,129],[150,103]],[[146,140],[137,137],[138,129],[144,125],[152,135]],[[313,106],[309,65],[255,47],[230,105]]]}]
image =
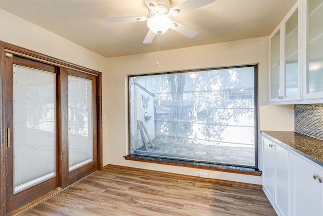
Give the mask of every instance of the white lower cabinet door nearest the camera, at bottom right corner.
[{"label": "white lower cabinet door nearest the camera, at bottom right corner", "polygon": [[291,154],[291,215],[322,215],[322,183],[313,178],[322,171]]}]

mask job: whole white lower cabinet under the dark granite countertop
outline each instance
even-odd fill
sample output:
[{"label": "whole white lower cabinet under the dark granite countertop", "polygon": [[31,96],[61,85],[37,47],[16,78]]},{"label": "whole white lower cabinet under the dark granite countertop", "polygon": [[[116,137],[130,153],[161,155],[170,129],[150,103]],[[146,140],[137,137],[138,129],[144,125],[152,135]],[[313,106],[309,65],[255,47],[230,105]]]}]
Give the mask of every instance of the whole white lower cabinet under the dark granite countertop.
[{"label": "whole white lower cabinet under the dark granite countertop", "polygon": [[278,215],[323,216],[323,167],[262,136],[263,191]]}]

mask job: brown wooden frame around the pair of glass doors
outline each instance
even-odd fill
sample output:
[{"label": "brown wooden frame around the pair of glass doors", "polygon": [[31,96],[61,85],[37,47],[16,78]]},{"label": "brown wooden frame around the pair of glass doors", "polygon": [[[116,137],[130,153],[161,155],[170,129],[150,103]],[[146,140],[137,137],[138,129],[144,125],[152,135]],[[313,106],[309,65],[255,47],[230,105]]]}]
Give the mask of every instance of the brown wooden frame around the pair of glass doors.
[{"label": "brown wooden frame around the pair of glass doors", "polygon": [[[64,51],[62,51],[64,52]],[[6,71],[6,53],[12,53],[17,56],[25,57],[31,60],[37,60],[39,62],[45,62],[47,64],[52,64],[55,66],[60,67],[60,71],[58,72],[58,81],[63,76],[67,76],[67,68],[74,69],[77,71],[90,73],[95,76],[97,76],[97,82],[96,82],[96,91],[97,91],[97,98],[96,98],[96,105],[97,105],[97,153],[98,153],[98,162],[97,162],[97,168],[98,170],[102,169],[102,74],[101,72],[91,70],[82,66],[78,66],[73,63],[69,63],[64,60],[60,60],[57,58],[53,58],[41,53],[37,53],[25,48],[21,48],[12,44],[9,44],[4,41],[0,41],[0,216],[5,215],[6,213],[6,166],[7,166],[7,128],[5,127],[5,116],[6,113],[4,112],[4,104],[6,100],[5,95],[5,88],[6,88],[6,78],[5,78],[5,71]],[[63,73],[61,73],[63,71]],[[65,71],[65,72],[64,72]],[[61,83],[62,85],[62,83]],[[65,94],[65,92],[62,92],[62,86],[58,85],[58,93],[59,94]],[[67,93],[66,93],[67,94]],[[65,100],[65,99],[64,99]],[[67,101],[66,101],[67,102]],[[62,129],[65,129],[67,127],[67,121],[63,121],[63,119],[67,119],[68,116],[65,116],[63,114],[62,106],[60,106],[62,103],[66,103],[65,101],[58,101],[58,115],[61,115],[62,121],[60,124],[57,125],[58,127],[58,133]],[[62,136],[59,136],[61,140],[65,139]],[[60,140],[60,141],[61,141]],[[59,155],[59,160],[66,160],[66,157],[64,155],[64,151],[61,151],[62,154]],[[67,153],[67,152],[66,152]],[[62,188],[68,186],[68,179],[65,178],[64,173],[62,173],[62,167],[58,167],[58,175],[60,175],[62,178],[62,182],[59,183]],[[64,179],[64,180],[63,180]]]}]

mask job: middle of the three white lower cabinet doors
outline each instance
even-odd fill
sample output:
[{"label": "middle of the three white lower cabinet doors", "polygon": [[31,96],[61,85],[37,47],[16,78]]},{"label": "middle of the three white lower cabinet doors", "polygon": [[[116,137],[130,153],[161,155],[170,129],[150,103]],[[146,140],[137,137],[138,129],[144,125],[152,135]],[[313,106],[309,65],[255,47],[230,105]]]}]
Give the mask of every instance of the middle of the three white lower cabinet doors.
[{"label": "middle of the three white lower cabinet doors", "polygon": [[281,215],[289,215],[289,151],[275,145],[275,205]]}]

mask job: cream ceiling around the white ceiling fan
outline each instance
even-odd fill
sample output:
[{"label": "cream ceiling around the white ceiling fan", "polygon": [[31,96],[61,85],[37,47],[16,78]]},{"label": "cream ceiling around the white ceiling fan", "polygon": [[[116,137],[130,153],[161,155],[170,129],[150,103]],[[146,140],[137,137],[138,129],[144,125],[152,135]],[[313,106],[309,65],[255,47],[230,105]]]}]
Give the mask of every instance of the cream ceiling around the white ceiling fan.
[{"label": "cream ceiling around the white ceiling fan", "polygon": [[[170,0],[172,7],[184,1]],[[170,29],[160,35],[161,50],[268,36],[295,3],[216,0],[171,17],[198,34],[188,38]],[[0,8],[107,58],[157,51],[157,37],[151,44],[142,44],[146,22],[104,21],[105,16],[149,17],[143,0],[0,0]]]}]

